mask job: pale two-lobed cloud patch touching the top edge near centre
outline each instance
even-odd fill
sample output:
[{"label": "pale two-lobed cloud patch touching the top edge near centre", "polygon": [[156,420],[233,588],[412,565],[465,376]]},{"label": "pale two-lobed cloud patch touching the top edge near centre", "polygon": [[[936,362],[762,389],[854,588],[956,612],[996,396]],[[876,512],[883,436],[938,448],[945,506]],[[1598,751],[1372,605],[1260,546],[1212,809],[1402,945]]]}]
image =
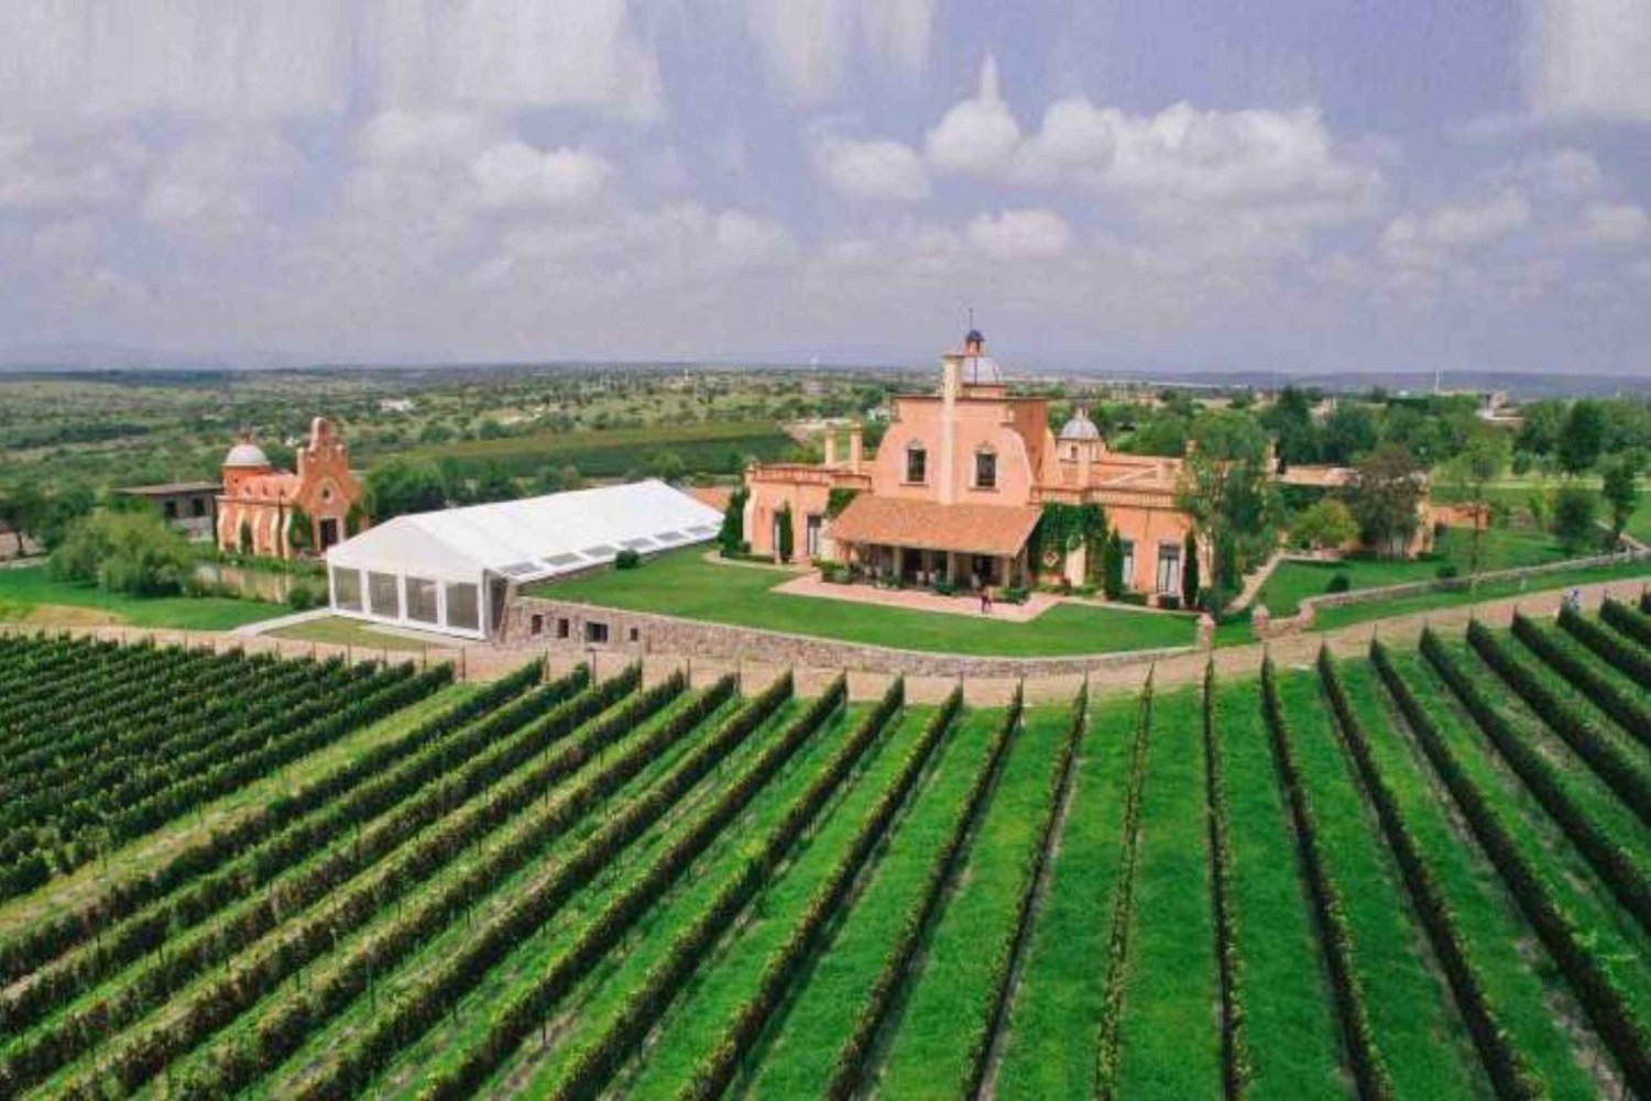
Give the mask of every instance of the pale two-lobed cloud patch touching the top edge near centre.
[{"label": "pale two-lobed cloud patch touching the top edge near centre", "polygon": [[895,73],[928,63],[933,0],[748,0],[746,28],[773,79],[804,104],[830,101],[857,50]]}]

